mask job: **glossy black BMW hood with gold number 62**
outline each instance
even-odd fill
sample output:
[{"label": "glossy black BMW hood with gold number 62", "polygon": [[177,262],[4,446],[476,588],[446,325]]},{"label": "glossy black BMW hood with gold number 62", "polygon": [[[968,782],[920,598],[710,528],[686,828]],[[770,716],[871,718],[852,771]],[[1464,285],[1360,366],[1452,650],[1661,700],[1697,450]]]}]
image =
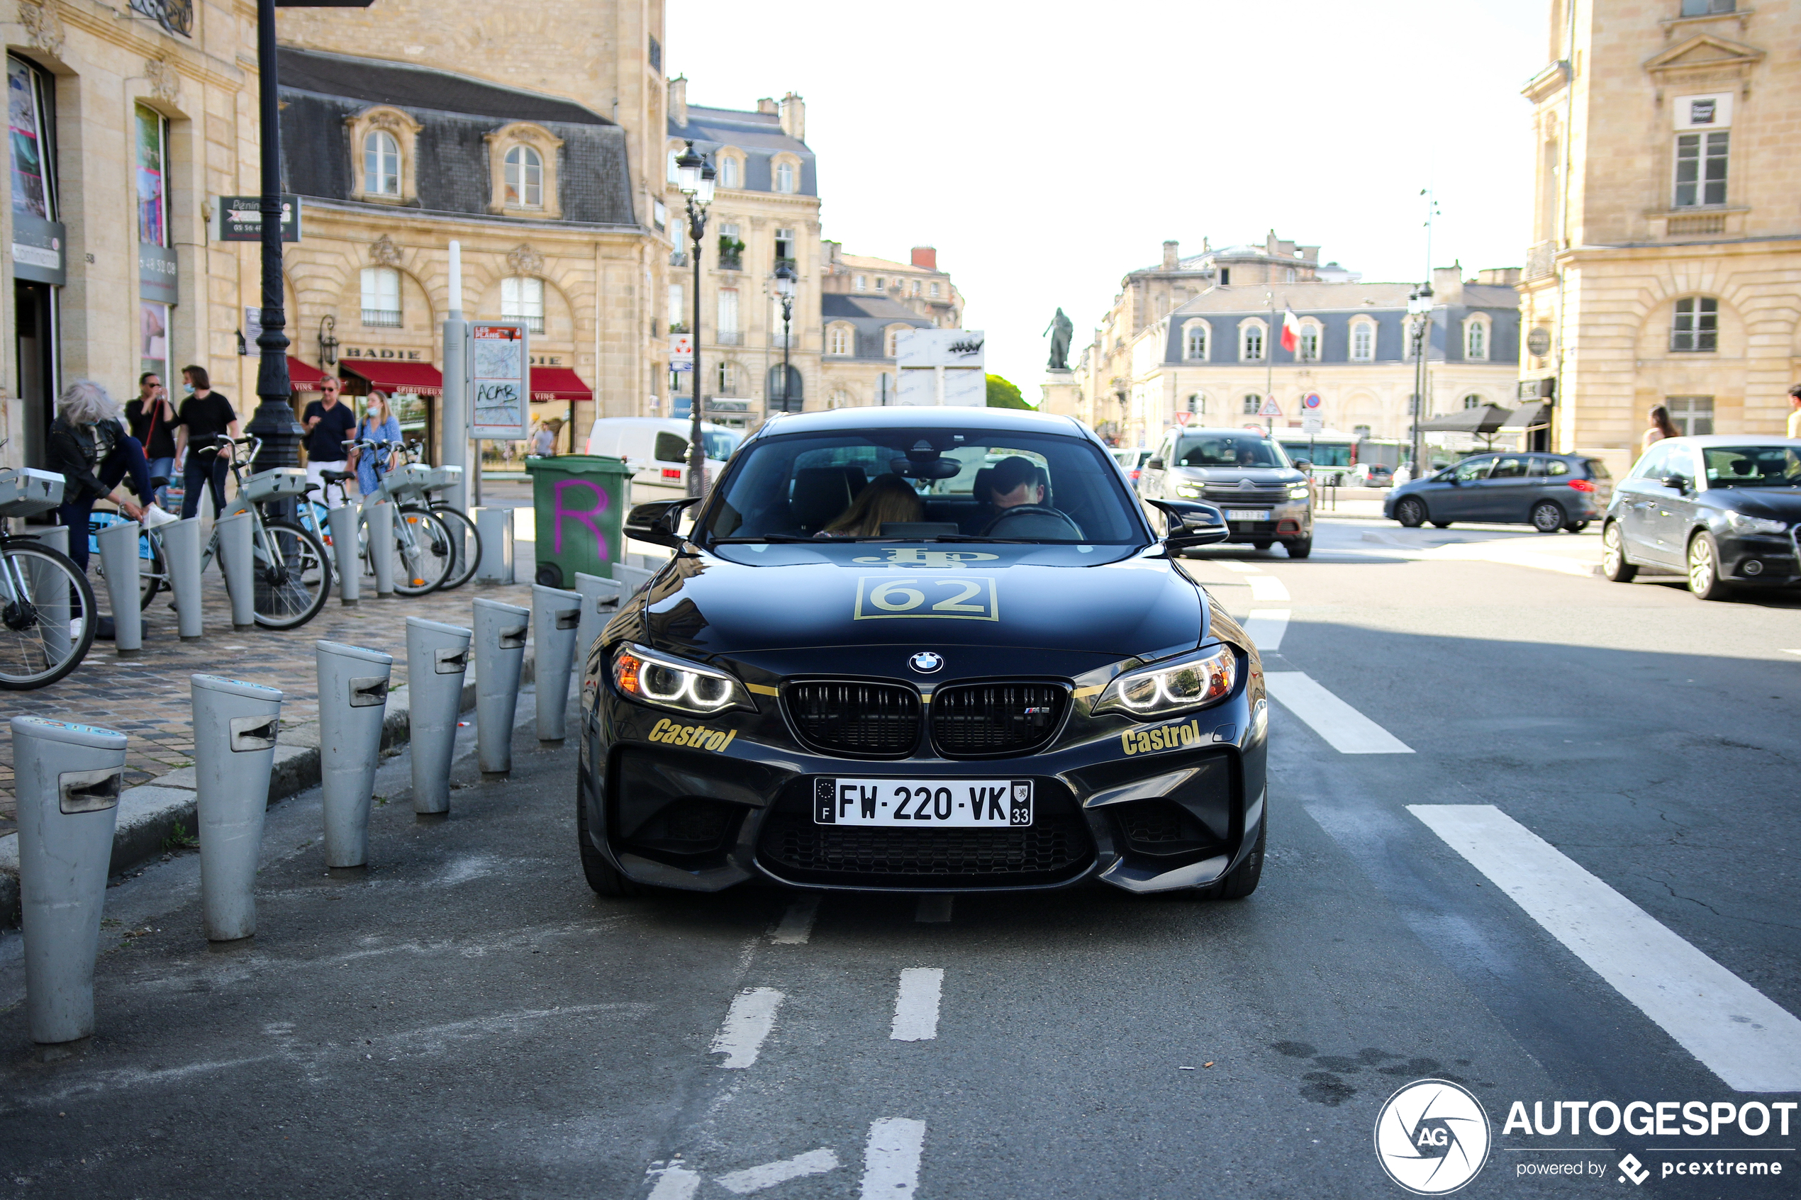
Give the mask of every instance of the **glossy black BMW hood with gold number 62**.
[{"label": "glossy black BMW hood with gold number 62", "polygon": [[1162,547],[776,543],[684,549],[636,630],[688,657],[854,646],[982,646],[1111,658],[1190,649],[1205,592]]}]

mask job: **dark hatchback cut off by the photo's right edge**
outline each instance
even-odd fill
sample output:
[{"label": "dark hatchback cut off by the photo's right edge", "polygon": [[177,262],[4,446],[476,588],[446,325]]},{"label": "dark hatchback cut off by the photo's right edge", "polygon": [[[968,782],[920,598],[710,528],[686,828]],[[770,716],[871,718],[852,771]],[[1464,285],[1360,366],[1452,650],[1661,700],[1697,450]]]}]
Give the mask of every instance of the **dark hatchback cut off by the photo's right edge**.
[{"label": "dark hatchback cut off by the photo's right edge", "polygon": [[1675,570],[1720,599],[1740,587],[1801,585],[1801,441],[1670,437],[1619,480],[1601,527],[1601,570],[1626,583]]}]

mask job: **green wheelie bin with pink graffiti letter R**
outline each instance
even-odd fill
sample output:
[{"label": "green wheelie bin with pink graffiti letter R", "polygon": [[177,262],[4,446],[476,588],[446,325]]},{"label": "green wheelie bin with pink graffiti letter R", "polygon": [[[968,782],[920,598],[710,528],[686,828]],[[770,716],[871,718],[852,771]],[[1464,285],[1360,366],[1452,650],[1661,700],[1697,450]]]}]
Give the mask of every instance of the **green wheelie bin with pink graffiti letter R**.
[{"label": "green wheelie bin with pink graffiti letter R", "polygon": [[625,491],[632,471],[621,459],[596,453],[528,457],[537,515],[537,570],[551,588],[573,588],[576,572],[612,578],[625,545]]}]

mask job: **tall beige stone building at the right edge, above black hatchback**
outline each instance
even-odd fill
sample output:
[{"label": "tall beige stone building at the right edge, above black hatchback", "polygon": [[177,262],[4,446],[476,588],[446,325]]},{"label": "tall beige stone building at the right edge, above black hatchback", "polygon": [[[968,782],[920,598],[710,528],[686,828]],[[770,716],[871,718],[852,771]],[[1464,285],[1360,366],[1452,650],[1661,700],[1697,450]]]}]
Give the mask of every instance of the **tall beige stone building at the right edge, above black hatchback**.
[{"label": "tall beige stone building at the right edge, above black hatchback", "polygon": [[[1801,2],[1554,0],[1522,381],[1619,471],[1652,405],[1779,434],[1801,378]],[[1527,383],[1531,387],[1533,383]]]}]

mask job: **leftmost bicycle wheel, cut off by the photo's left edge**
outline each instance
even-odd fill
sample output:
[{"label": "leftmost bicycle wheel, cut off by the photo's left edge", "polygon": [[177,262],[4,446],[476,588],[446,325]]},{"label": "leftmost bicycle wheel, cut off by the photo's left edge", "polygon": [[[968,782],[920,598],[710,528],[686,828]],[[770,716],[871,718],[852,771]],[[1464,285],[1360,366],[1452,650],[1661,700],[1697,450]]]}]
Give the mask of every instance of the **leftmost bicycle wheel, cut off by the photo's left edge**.
[{"label": "leftmost bicycle wheel, cut off by the photo's left edge", "polygon": [[67,554],[31,538],[9,538],[0,560],[0,689],[45,687],[94,646],[94,588]]}]

